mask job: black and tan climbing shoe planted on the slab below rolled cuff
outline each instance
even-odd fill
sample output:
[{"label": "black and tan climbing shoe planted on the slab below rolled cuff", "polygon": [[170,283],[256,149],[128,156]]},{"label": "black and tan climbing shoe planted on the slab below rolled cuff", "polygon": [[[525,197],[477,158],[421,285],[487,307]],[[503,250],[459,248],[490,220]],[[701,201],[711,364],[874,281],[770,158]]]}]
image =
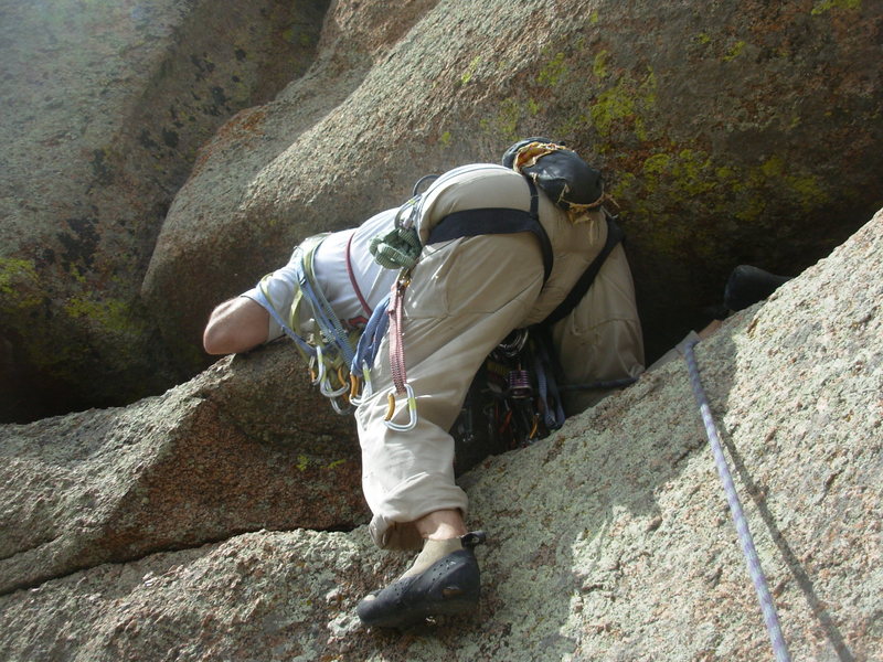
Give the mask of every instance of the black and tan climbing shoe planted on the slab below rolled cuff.
[{"label": "black and tan climbing shoe planted on the slab below rolled cuff", "polygon": [[481,584],[474,549],[483,542],[483,531],[447,541],[426,541],[404,575],[359,602],[357,612],[362,623],[405,628],[429,617],[474,612]]}]

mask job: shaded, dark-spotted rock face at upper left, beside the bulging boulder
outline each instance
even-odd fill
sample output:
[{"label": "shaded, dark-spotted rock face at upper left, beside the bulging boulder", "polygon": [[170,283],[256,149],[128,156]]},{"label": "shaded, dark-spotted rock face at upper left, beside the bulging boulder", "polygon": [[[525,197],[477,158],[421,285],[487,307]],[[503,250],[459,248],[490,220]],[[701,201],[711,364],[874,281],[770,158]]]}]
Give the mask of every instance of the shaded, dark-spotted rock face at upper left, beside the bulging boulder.
[{"label": "shaded, dark-spotted rock face at upper left, beside the bulging boulder", "polygon": [[198,148],[307,68],[327,4],[0,7],[0,420],[174,383],[139,300],[160,224]]}]

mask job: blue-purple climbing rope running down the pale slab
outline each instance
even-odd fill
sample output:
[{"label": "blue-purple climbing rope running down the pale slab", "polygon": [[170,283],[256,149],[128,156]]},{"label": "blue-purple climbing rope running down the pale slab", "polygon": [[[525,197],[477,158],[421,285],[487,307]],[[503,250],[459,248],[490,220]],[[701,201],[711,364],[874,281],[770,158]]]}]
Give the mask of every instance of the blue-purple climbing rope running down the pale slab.
[{"label": "blue-purple climbing rope running down the pale slab", "polygon": [[781,633],[779,626],[776,606],[769,595],[766,577],[764,570],[760,568],[760,559],[757,557],[757,551],[754,547],[754,540],[752,538],[751,531],[748,530],[748,522],[745,519],[745,513],[742,511],[742,503],[740,502],[738,494],[736,493],[733,477],[730,473],[730,467],[724,457],[721,438],[717,434],[717,426],[714,425],[714,419],[711,415],[711,407],[705,396],[705,391],[702,388],[702,383],[699,377],[699,366],[693,353],[693,348],[699,341],[693,339],[684,345],[684,360],[690,372],[690,384],[693,387],[693,395],[695,396],[696,404],[699,405],[700,413],[702,414],[702,421],[705,424],[705,434],[711,442],[711,450],[714,455],[714,462],[717,466],[717,473],[721,477],[721,482],[724,485],[726,493],[726,501],[730,504],[730,512],[733,515],[733,521],[736,525],[738,540],[742,544],[742,551],[748,565],[748,573],[752,576],[757,599],[760,602],[760,610],[764,613],[764,622],[766,623],[769,638],[773,642],[773,652],[776,655],[777,662],[790,662],[788,647],[785,643],[785,637]]}]

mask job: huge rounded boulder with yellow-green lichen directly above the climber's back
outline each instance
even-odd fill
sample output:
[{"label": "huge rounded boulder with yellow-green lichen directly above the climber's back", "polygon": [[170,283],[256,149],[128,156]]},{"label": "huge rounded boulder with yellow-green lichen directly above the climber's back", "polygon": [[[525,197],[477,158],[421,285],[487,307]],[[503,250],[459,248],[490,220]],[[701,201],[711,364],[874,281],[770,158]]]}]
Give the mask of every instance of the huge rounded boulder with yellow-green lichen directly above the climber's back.
[{"label": "huge rounded boulder with yellow-green lichen directly above the climber's back", "polygon": [[298,241],[544,135],[621,203],[653,357],[737,264],[795,275],[877,209],[881,21],[880,4],[804,0],[336,2],[308,74],[201,151],[145,299],[199,370],[210,308]]}]

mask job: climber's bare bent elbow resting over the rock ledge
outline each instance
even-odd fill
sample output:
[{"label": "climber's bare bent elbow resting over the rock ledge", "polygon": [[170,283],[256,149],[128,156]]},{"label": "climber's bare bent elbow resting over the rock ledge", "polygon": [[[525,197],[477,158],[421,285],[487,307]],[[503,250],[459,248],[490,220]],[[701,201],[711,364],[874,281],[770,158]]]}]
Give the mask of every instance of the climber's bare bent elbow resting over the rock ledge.
[{"label": "climber's bare bent elbow resting over the rock ledge", "polygon": [[210,354],[245,352],[267,341],[269,313],[247,297],[236,297],[212,311],[202,345]]}]

